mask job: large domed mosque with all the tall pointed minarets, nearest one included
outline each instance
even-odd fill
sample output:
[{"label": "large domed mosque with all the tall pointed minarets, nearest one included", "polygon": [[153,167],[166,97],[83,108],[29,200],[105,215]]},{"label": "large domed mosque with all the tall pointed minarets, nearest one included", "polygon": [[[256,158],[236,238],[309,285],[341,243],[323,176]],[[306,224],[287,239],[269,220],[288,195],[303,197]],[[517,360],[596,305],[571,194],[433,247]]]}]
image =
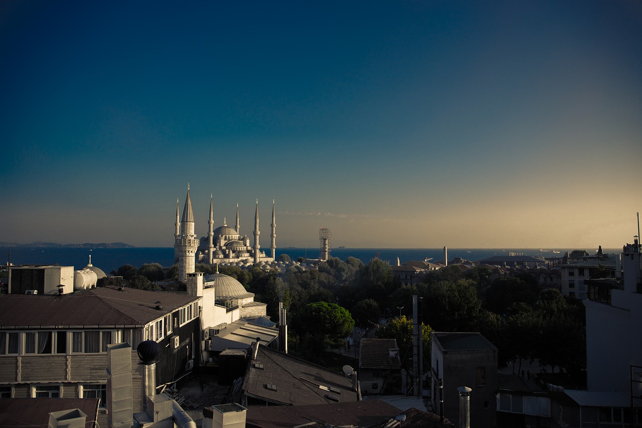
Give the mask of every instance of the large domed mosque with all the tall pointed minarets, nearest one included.
[{"label": "large domed mosque with all the tall pointed minarets, nearest one included", "polygon": [[178,280],[185,281],[187,274],[195,272],[196,262],[209,264],[242,263],[257,264],[272,263],[276,252],[276,219],[274,201],[272,201],[272,233],[270,234],[270,256],[261,251],[259,245],[259,201],[256,201],[254,213],[254,244],[250,245],[247,235],[241,236],[239,227],[239,208],[236,204],[236,224],[227,226],[227,219],[223,225],[214,229],[214,195],[209,202],[209,231],[207,236],[198,238],[194,231],[194,212],[187,184],[187,197],[183,208],[182,217],[176,202],[175,244],[174,260],[178,262]]}]

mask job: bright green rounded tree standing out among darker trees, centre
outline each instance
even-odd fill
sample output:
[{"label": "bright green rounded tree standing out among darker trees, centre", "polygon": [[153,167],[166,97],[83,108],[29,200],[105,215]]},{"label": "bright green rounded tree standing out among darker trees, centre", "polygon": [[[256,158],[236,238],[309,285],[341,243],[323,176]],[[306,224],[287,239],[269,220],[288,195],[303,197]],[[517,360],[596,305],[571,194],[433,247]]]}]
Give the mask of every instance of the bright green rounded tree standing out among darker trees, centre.
[{"label": "bright green rounded tree standing out among darker trees, centre", "polygon": [[317,301],[304,306],[297,316],[297,330],[321,334],[329,346],[340,346],[345,337],[352,334],[354,319],[347,309]]}]

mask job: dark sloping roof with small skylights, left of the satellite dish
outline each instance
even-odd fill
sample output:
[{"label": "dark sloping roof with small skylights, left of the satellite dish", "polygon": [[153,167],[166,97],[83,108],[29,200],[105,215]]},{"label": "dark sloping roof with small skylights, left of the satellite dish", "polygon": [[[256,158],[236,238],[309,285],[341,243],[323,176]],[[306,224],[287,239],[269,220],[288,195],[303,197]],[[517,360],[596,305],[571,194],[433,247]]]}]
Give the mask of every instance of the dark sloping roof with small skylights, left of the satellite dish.
[{"label": "dark sloping roof with small skylights, left of the satellite dish", "polygon": [[[249,364],[243,380],[243,391],[252,397],[286,406],[336,402],[328,396],[340,403],[357,400],[351,379],[343,373],[327,370],[265,346],[259,346],[257,357],[252,360],[254,362],[263,364],[263,369]],[[268,389],[271,385],[276,390]],[[328,391],[329,388],[334,391]]]}]

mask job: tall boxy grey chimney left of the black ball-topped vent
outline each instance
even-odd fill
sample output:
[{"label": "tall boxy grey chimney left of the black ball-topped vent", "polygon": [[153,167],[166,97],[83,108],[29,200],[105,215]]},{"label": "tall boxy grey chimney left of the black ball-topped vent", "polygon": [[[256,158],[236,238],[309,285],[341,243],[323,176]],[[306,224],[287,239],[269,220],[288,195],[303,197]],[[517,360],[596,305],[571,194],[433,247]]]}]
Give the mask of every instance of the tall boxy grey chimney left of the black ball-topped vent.
[{"label": "tall boxy grey chimney left of the black ball-topped vent", "polygon": [[131,346],[128,343],[107,345],[107,424],[110,428],[132,426],[132,389]]}]

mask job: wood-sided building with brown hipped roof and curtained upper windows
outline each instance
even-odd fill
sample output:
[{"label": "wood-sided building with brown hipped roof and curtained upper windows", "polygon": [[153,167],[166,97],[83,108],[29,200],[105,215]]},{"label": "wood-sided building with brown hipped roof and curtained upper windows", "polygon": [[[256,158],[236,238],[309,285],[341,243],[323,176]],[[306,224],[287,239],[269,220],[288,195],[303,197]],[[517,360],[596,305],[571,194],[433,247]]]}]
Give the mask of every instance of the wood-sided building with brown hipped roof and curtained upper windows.
[{"label": "wood-sided building with brown hipped roof and curtained upper windows", "polygon": [[[11,398],[100,398],[105,420],[107,348],[141,341],[160,347],[156,380],[178,379],[198,362],[201,298],[100,287],[60,296],[9,294],[0,299],[0,389]],[[141,373],[134,370],[140,390]],[[135,395],[137,408],[141,395]]]}]

